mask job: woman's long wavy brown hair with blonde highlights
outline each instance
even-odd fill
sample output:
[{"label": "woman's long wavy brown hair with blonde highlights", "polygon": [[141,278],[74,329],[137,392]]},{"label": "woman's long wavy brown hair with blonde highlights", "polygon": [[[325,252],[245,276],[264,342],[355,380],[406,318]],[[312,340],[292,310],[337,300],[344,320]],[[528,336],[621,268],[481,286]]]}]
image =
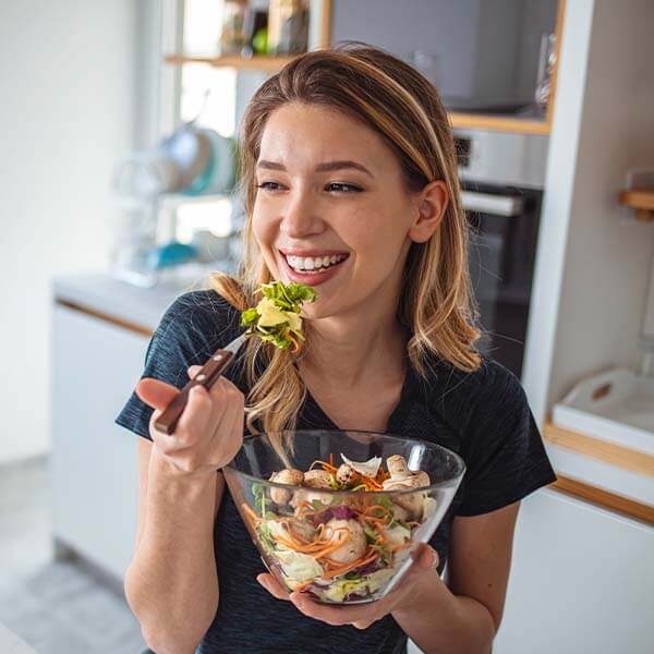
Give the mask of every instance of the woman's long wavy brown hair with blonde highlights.
[{"label": "woman's long wavy brown hair with blonde highlights", "polygon": [[[210,286],[239,311],[258,301],[256,290],[272,280],[252,230],[255,166],[262,135],[272,111],[287,102],[342,111],[374,130],[396,154],[408,192],[434,180],[447,184],[449,203],[432,238],[412,243],[398,299],[399,322],[411,334],[408,355],[426,376],[429,359],[472,372],[481,364],[480,337],[468,274],[468,227],[461,207],[457,155],[447,113],[433,84],[392,55],[347,41],[294,58],[252,97],[242,123],[239,184],[243,194],[243,262],[235,277],[210,276]],[[311,330],[307,331],[307,344]],[[300,356],[302,353],[299,354]],[[278,452],[292,451],[284,429],[293,429],[306,395],[294,365],[298,354],[251,339],[244,354],[249,382],[247,428],[257,424]]]}]

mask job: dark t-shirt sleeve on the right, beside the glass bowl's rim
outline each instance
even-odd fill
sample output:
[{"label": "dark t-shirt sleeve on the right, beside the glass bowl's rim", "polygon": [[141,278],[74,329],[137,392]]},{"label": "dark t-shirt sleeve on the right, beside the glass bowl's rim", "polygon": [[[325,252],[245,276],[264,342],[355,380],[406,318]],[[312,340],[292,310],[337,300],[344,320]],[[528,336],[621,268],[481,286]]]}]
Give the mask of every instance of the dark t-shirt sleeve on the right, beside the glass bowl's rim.
[{"label": "dark t-shirt sleeve on the right, beside the glass bowl's rim", "polygon": [[459,516],[500,509],[556,481],[524,389],[512,373],[491,365],[471,409]]}]

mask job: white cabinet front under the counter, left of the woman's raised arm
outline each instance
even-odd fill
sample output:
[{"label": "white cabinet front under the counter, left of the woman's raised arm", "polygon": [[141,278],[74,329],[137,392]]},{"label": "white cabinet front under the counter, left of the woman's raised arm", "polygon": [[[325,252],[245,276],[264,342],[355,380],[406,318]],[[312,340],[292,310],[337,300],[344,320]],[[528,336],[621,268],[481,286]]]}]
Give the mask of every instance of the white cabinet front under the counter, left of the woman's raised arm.
[{"label": "white cabinet front under the counter, left of the woman's raised arm", "polygon": [[149,339],[61,304],[52,338],[53,536],[122,579],[136,535],[137,436],[113,420]]}]

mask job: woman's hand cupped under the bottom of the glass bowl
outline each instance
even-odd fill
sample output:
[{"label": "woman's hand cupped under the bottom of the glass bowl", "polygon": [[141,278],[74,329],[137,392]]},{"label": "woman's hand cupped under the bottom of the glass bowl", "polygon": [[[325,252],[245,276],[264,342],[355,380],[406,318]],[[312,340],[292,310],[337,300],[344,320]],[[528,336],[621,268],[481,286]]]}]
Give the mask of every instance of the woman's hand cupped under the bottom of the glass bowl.
[{"label": "woman's hand cupped under the bottom of the glass bowl", "polygon": [[312,600],[310,593],[294,591],[289,593],[272,574],[257,574],[256,580],[278,600],[292,602],[295,607],[310,618],[322,620],[327,625],[353,625],[356,629],[367,629],[373,622],[389,613],[407,608],[415,602],[417,583],[424,577],[425,570],[436,569],[438,554],[426,544],[412,553],[413,565],[402,577],[398,585],[388,595],[376,602],[352,606],[330,606]]}]

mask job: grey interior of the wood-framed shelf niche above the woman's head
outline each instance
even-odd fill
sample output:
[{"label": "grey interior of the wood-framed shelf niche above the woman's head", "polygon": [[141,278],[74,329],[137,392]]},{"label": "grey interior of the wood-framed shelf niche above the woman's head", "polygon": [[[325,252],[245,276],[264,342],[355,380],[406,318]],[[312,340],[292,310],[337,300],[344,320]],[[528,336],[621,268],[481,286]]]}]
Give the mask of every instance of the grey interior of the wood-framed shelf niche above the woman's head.
[{"label": "grey interior of the wood-framed shelf niche above the woman's head", "polygon": [[[446,98],[533,98],[537,62],[525,57],[553,31],[556,0],[335,0],[332,40],[363,40],[412,62]],[[397,29],[389,29],[397,25]]]}]

